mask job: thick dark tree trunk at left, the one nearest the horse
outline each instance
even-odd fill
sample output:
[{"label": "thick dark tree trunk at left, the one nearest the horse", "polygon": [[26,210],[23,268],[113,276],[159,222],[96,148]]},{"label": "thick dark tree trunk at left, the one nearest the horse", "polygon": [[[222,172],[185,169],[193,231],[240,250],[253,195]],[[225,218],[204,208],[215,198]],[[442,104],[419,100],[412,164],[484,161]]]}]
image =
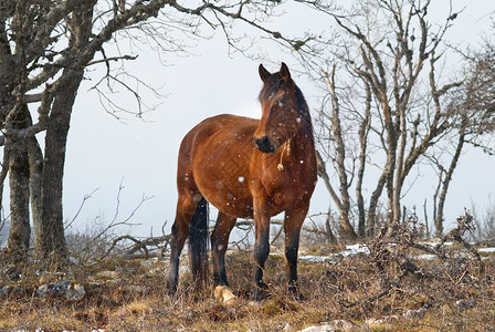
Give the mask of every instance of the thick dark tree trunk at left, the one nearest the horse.
[{"label": "thick dark tree trunk at left, the one nearest the horse", "polygon": [[[85,50],[93,27],[93,8],[96,1],[80,3],[72,14],[70,44],[74,51],[74,59]],[[94,51],[89,58],[93,58]],[[36,231],[36,256],[45,264],[63,264],[67,259],[65,243],[62,190],[65,165],[65,151],[72,107],[77,90],[84,76],[84,65],[76,63],[64,69],[60,86],[56,90],[50,117],[46,124],[45,154],[42,173],[41,193],[41,224]],[[33,184],[35,185],[35,184]]]}]

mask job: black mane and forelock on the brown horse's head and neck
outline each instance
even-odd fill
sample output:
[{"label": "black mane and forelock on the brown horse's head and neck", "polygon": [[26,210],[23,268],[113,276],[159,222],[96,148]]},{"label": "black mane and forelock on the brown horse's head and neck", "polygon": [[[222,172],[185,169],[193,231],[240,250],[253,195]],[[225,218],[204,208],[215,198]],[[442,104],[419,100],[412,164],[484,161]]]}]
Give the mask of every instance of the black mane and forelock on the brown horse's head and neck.
[{"label": "black mane and forelock on the brown horse's head and neck", "polygon": [[[259,101],[261,104],[266,103],[270,98],[272,98],[278,89],[284,83],[280,73],[272,74],[263,84],[263,89],[260,92]],[[294,92],[296,95],[296,104],[297,104],[297,113],[299,113],[304,124],[306,125],[306,129],[313,131],[312,117],[309,115],[309,107],[307,106],[306,98],[304,97],[303,92],[294,82]]]}]

